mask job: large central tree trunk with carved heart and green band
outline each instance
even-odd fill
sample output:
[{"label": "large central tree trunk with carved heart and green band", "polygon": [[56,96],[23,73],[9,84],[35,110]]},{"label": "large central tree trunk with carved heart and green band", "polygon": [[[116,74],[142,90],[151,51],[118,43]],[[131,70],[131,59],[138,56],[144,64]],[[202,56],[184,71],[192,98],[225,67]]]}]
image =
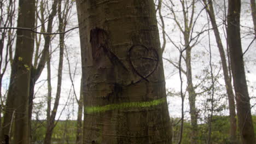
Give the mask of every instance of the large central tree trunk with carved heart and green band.
[{"label": "large central tree trunk with carved heart and green band", "polygon": [[83,143],[171,143],[153,0],[77,1]]}]

